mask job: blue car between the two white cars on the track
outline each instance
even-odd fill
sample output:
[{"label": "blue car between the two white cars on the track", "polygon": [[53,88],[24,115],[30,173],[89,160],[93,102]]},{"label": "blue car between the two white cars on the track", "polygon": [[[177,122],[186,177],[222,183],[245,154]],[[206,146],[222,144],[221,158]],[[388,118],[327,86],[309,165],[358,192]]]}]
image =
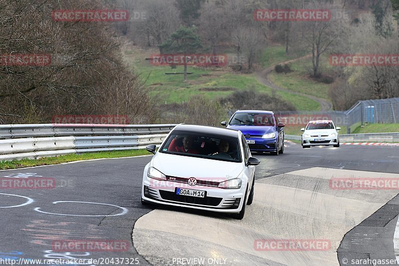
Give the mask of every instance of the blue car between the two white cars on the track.
[{"label": "blue car between the two white cars on the track", "polygon": [[271,111],[238,110],[228,121],[220,123],[244,134],[251,152],[284,153],[284,124]]}]

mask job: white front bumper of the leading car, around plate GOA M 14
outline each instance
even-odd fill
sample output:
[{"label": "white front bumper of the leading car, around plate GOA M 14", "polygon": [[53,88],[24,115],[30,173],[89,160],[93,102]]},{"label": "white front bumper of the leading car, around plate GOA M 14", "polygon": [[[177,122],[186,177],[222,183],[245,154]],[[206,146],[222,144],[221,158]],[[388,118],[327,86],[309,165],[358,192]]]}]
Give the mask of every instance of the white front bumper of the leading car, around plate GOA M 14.
[{"label": "white front bumper of the leading car, around plate GOA M 14", "polygon": [[[204,191],[205,197],[177,195],[177,188]],[[145,202],[156,204],[220,213],[238,213],[244,201],[245,189],[245,184],[242,184],[239,189],[221,189],[208,186],[190,186],[187,183],[173,181],[159,181],[147,177],[147,171],[145,171],[141,198]]]}]

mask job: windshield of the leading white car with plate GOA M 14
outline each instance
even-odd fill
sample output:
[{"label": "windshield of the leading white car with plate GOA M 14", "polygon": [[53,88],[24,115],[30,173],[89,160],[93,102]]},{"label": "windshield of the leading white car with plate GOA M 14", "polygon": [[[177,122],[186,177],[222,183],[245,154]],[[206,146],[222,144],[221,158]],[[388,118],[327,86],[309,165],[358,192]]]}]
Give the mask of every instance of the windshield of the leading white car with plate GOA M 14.
[{"label": "windshield of the leading white car with plate GOA M 14", "polygon": [[211,160],[241,162],[238,138],[223,135],[175,130],[159,149],[159,152]]}]

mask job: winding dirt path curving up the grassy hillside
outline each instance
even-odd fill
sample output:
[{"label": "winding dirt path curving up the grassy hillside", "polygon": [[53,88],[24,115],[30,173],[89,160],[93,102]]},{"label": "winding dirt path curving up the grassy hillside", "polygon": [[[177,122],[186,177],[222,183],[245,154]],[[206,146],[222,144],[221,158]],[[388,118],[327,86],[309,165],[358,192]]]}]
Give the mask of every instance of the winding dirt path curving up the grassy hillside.
[{"label": "winding dirt path curving up the grassy hillside", "polygon": [[[308,57],[310,57],[310,56],[312,56],[312,55],[311,55],[311,54],[308,54],[308,55],[305,55],[305,56],[302,56],[302,57],[298,57],[298,58],[295,58],[295,59],[292,59],[292,60],[280,62],[279,64],[288,64],[288,63],[291,63],[291,62],[295,62],[296,60],[308,58]],[[273,88],[273,89],[276,89],[276,90],[285,91],[285,92],[289,92],[289,93],[293,93],[293,94],[296,94],[296,95],[305,96],[305,97],[307,97],[307,98],[309,98],[309,99],[312,99],[312,100],[314,100],[314,101],[316,101],[316,102],[318,102],[318,103],[320,104],[320,110],[321,110],[321,111],[329,111],[329,110],[332,110],[333,105],[332,105],[329,101],[326,101],[325,99],[318,98],[318,97],[316,97],[316,96],[308,95],[308,94],[301,93],[301,92],[292,91],[292,90],[289,90],[289,89],[286,89],[286,88],[279,87],[278,85],[274,84],[274,83],[268,78],[268,75],[269,75],[269,73],[270,73],[271,71],[273,71],[274,66],[275,66],[275,65],[272,65],[272,66],[270,66],[270,67],[268,67],[268,68],[266,68],[266,69],[263,69],[262,71],[258,72],[258,73],[257,73],[257,80],[258,80],[259,82],[261,82],[262,84],[264,84],[264,85],[270,87],[270,88]]]}]

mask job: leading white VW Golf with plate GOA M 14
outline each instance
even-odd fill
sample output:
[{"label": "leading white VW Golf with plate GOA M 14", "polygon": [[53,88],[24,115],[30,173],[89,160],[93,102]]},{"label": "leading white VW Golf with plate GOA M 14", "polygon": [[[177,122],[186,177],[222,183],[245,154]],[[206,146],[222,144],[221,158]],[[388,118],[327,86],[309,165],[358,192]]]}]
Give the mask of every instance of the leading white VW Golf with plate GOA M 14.
[{"label": "leading white VW Golf with plate GOA M 14", "polygon": [[144,168],[141,201],[230,213],[242,219],[253,200],[255,165],[241,131],[177,125]]}]

